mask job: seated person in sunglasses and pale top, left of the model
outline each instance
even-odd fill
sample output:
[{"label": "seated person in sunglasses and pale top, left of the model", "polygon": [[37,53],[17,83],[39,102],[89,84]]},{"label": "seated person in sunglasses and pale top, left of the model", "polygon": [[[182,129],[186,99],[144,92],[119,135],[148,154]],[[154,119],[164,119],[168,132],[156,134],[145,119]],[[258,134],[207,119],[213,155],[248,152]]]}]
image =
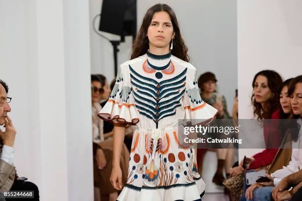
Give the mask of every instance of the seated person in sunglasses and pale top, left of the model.
[{"label": "seated person in sunglasses and pale top, left of the model", "polygon": [[[113,157],[112,135],[103,133],[103,120],[97,117],[102,109],[99,103],[101,93],[103,93],[101,80],[98,76],[91,75],[94,183],[100,189],[102,201],[115,201],[118,193],[110,183]],[[126,182],[130,154],[125,145],[121,156],[122,180]]]}]

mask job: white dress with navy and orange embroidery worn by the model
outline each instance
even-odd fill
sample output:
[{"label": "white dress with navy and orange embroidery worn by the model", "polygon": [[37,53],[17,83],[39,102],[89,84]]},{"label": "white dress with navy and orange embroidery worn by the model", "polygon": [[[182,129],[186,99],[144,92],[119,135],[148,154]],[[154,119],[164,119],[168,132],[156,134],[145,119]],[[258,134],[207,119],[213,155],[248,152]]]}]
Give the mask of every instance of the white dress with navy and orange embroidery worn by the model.
[{"label": "white dress with navy and orange embroidery worn by the model", "polygon": [[[202,101],[196,69],[173,55],[147,52],[120,65],[99,117],[136,125],[128,179],[118,201],[200,201],[205,183],[194,149],[178,140],[178,120],[212,121],[217,110]],[[196,123],[193,122],[193,123]]]}]

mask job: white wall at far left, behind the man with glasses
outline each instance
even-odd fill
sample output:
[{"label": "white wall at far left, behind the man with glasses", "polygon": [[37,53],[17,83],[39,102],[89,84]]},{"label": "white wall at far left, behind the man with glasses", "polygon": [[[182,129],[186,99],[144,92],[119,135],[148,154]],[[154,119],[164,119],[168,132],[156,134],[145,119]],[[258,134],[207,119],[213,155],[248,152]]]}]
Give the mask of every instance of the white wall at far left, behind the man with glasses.
[{"label": "white wall at far left, behind the man with glasses", "polygon": [[14,164],[42,201],[93,200],[88,11],[81,0],[0,0]]}]

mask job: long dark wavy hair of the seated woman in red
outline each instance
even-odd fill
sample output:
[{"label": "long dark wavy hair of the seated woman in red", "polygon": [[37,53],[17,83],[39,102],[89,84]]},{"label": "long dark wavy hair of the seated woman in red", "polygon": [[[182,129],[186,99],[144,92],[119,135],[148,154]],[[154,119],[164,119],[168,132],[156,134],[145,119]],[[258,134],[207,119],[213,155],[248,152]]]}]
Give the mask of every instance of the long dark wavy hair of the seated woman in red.
[{"label": "long dark wavy hair of the seated woman in red", "polygon": [[253,91],[251,101],[254,108],[254,116],[258,116],[258,120],[270,119],[272,114],[280,107],[280,101],[278,99],[279,90],[282,85],[281,76],[271,70],[264,70],[257,73],[254,77],[252,86],[254,90],[255,81],[258,76],[264,76],[267,79],[268,88],[272,92],[272,96],[264,103],[264,107],[262,107],[261,103],[257,103],[255,100],[255,93]]}]

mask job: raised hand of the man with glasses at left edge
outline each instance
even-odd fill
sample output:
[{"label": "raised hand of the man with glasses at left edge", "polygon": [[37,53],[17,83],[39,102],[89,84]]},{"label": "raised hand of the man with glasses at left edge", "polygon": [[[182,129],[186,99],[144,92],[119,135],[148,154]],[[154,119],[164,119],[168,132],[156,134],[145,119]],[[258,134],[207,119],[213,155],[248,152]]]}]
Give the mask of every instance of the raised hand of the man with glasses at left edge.
[{"label": "raised hand of the man with glasses at left edge", "polygon": [[17,132],[14,125],[12,124],[11,119],[8,116],[4,120],[4,127],[5,127],[4,132],[0,130],[0,138],[2,139],[4,145],[13,147]]}]

